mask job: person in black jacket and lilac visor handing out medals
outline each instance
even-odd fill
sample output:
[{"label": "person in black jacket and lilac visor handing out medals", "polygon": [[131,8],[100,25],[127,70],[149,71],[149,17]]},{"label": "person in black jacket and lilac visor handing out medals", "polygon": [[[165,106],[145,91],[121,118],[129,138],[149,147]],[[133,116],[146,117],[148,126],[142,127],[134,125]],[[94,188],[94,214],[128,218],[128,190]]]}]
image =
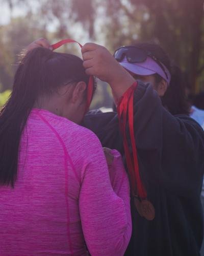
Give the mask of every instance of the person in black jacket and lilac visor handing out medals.
[{"label": "person in black jacket and lilac visor handing out medals", "polygon": [[[49,47],[47,42],[43,44]],[[116,51],[117,61],[99,45],[88,43],[82,48],[86,73],[110,84],[116,104],[139,79],[134,92],[135,143],[140,175],[155,207],[155,218],[149,221],[141,217],[132,197],[133,234],[125,255],[199,255],[204,134],[199,124],[188,117],[188,107],[181,100],[182,92],[169,60],[164,61],[156,46],[155,50],[145,44],[138,47],[144,52],[129,48]],[[148,60],[150,66],[145,62]],[[116,112],[92,111],[85,116],[83,125],[98,136],[103,146],[116,148],[125,163]]]}]

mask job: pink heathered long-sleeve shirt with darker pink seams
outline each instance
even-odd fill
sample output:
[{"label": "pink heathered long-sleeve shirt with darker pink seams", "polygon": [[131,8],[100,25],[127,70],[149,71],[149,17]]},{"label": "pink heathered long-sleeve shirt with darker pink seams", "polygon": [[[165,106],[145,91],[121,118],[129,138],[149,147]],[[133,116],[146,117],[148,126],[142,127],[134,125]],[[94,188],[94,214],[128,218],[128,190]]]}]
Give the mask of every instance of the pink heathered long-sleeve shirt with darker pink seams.
[{"label": "pink heathered long-sleeve shirt with darker pink seams", "polygon": [[91,131],[33,109],[15,186],[0,186],[0,255],[87,255],[86,245],[91,255],[122,255],[132,231],[130,188],[112,153],[108,170]]}]

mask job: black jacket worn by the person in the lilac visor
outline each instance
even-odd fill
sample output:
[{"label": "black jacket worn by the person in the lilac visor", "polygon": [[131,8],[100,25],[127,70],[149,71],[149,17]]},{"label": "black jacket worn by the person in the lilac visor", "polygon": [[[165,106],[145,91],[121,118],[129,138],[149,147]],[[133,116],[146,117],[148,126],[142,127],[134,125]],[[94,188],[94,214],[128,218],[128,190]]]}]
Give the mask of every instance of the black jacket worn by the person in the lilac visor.
[{"label": "black jacket worn by the person in the lilac visor", "polygon": [[[90,112],[83,125],[103,146],[116,148],[125,164],[117,113]],[[139,82],[134,95],[134,131],[140,174],[156,215],[152,221],[140,217],[131,199],[133,234],[125,255],[199,255],[203,130],[186,115],[172,116],[150,84]]]}]

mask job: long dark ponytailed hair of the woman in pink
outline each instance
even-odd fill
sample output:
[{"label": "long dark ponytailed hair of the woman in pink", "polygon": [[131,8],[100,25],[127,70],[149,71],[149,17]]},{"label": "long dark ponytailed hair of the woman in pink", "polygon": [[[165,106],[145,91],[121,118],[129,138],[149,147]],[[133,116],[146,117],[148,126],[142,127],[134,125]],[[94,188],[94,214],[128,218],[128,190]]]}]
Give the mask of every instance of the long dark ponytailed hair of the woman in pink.
[{"label": "long dark ponytailed hair of the woman in pink", "polygon": [[0,184],[12,185],[17,177],[21,133],[38,96],[50,94],[68,82],[89,77],[77,56],[45,48],[30,51],[20,61],[13,91],[0,111]]}]

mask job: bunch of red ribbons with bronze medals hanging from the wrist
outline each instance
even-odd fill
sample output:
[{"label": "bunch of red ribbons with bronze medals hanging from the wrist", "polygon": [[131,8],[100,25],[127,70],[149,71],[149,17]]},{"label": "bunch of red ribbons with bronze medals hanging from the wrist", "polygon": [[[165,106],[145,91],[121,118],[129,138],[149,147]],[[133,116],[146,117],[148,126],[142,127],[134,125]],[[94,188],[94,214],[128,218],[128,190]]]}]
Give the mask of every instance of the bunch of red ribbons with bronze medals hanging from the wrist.
[{"label": "bunch of red ribbons with bronze medals hanging from the wrist", "polygon": [[[139,173],[137,147],[134,134],[133,106],[134,92],[137,86],[138,83],[134,82],[133,85],[123,94],[123,96],[119,100],[117,112],[120,130],[123,137],[124,153],[127,163],[127,169],[130,175],[131,190],[134,197],[135,206],[141,217],[144,217],[147,220],[153,220],[155,218],[155,208],[148,200],[146,200],[147,192]],[[127,122],[128,125],[126,125]],[[129,127],[131,145],[129,145],[127,142],[127,127]],[[132,147],[132,153],[130,151],[130,146]]]}]

